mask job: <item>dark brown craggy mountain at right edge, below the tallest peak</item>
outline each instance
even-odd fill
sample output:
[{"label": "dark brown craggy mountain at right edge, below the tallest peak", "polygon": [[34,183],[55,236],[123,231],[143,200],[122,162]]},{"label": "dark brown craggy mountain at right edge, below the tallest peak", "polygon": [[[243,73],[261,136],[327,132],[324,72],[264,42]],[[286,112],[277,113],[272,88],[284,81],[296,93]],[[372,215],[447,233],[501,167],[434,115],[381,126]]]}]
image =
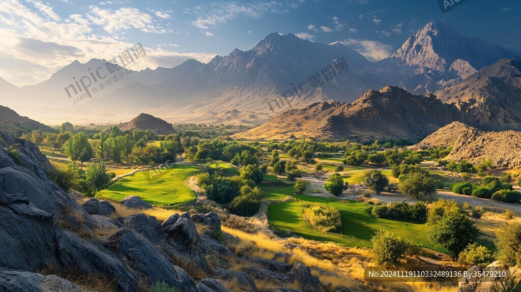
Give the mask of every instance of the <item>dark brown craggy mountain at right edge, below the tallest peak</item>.
[{"label": "dark brown craggy mountain at right edge, below the tallest peak", "polygon": [[435,93],[485,130],[521,130],[521,62],[501,59]]}]

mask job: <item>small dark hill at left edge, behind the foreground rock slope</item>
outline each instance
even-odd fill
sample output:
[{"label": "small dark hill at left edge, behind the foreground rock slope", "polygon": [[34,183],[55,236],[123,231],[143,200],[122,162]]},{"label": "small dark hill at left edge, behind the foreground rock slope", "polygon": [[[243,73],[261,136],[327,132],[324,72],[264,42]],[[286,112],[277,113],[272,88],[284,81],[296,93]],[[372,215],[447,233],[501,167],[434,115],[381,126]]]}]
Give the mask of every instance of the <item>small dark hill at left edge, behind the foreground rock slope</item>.
[{"label": "small dark hill at left edge, behind the foreground rock slope", "polygon": [[0,106],[0,130],[20,136],[22,133],[32,130],[51,131],[52,129],[28,117],[20,116],[8,107]]}]

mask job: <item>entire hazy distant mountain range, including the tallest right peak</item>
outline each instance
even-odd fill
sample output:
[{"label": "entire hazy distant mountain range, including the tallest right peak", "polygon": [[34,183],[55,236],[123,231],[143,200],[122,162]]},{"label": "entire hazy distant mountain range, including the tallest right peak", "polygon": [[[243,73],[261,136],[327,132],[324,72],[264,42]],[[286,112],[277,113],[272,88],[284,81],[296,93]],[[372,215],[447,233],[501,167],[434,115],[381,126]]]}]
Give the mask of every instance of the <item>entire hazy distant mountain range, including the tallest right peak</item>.
[{"label": "entire hazy distant mountain range, including the tallest right peak", "polygon": [[[18,88],[0,82],[0,89],[6,88],[7,93],[0,104],[46,123],[117,123],[146,111],[168,122],[257,124],[279,112],[322,100],[352,103],[367,90],[387,85],[414,94],[435,92],[505,57],[515,54],[497,44],[461,36],[439,22],[427,23],[392,56],[376,63],[341,42],[315,43],[293,34],[271,33],[251,50],[235,49],[208,64],[188,60],[175,68],[123,74],[117,81],[113,77],[121,71],[109,73],[105,60],[75,61],[40,84]],[[349,69],[326,82],[321,70],[327,71],[327,66],[341,58]],[[100,76],[113,79],[103,89],[97,85],[107,78],[94,81],[97,75],[90,75],[97,68],[102,68]],[[316,74],[322,84],[313,87],[318,84],[311,78]],[[69,87],[82,77],[91,85],[85,86],[90,97],[79,98],[84,92],[76,88],[75,94]],[[299,91],[301,85],[305,93]],[[274,107],[282,95],[293,95],[290,105]],[[218,117],[232,110],[239,112]]]}]

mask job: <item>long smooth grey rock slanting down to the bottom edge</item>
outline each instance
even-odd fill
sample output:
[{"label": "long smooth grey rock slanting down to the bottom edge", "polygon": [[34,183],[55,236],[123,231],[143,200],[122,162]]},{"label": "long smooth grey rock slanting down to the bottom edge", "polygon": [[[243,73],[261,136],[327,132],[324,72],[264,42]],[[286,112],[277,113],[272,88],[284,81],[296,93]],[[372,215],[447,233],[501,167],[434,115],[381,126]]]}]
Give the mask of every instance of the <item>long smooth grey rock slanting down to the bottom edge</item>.
[{"label": "long smooth grey rock slanting down to the bottom edge", "polygon": [[182,291],[196,291],[195,282],[188,273],[174,266],[139,233],[123,228],[110,237],[109,243],[115,251],[132,262],[134,269],[145,274],[151,283],[160,280]]}]

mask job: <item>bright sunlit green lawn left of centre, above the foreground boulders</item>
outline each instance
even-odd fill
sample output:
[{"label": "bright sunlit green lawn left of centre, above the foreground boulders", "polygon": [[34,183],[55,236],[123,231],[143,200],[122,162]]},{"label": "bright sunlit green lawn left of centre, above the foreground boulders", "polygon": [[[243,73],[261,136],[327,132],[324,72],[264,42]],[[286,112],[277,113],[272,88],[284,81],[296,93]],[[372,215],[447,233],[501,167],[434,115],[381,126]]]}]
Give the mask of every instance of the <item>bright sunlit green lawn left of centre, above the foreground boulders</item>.
[{"label": "bright sunlit green lawn left of centre, above the foreground boulders", "polygon": [[140,171],[124,177],[100,192],[102,197],[116,201],[127,196],[141,197],[152,205],[177,205],[192,201],[195,192],[186,184],[197,167],[175,164],[164,170]]}]

